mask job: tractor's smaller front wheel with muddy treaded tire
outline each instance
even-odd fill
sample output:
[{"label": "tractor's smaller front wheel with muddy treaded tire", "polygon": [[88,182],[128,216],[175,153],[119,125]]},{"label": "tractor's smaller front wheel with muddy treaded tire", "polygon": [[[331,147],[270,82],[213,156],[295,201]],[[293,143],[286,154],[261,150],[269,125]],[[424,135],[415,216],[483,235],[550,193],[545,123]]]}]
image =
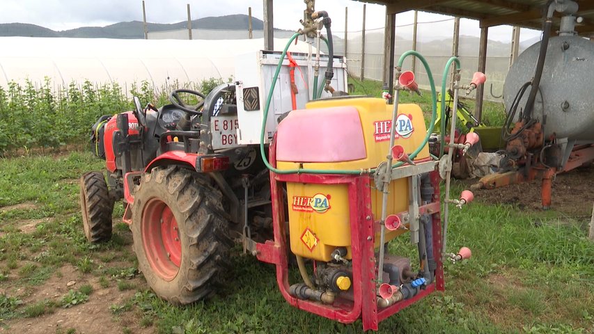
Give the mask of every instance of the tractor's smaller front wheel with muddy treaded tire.
[{"label": "tractor's smaller front wheel with muddy treaded tire", "polygon": [[101,172],[90,172],[80,178],[80,205],[86,239],[93,243],[111,239],[111,214],[114,201]]}]

